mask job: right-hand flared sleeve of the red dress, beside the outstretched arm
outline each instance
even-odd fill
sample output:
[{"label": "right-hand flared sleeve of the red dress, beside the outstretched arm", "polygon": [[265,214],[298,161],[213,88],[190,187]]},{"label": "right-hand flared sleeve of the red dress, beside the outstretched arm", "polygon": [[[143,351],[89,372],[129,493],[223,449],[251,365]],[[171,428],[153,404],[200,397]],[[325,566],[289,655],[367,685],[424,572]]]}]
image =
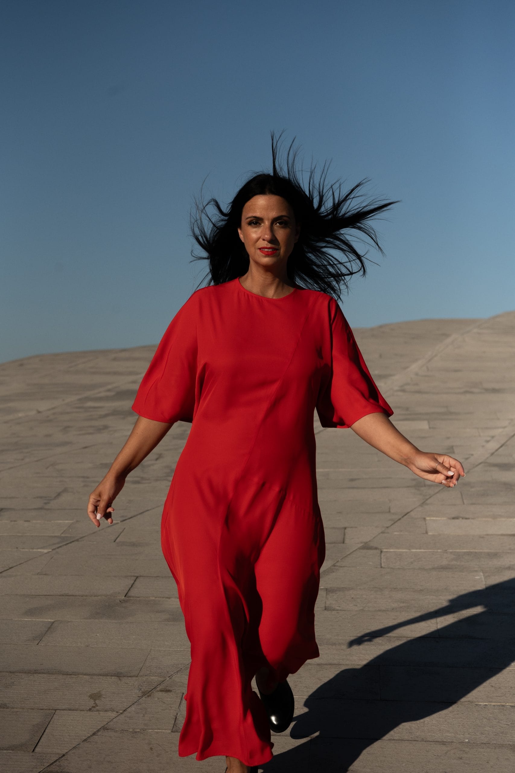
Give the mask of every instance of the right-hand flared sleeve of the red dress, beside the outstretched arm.
[{"label": "right-hand flared sleeve of the red dress, beside the outstretched arm", "polygon": [[321,384],[317,400],[317,414],[323,427],[351,427],[367,414],[393,414],[334,298],[330,301],[330,359],[330,374]]}]

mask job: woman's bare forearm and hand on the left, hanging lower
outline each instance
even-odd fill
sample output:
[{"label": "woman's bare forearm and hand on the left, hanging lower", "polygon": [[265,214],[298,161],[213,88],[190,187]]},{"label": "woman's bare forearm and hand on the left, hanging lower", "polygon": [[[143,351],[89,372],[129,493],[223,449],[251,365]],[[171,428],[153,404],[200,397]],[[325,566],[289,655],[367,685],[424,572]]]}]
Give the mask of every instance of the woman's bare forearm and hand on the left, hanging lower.
[{"label": "woman's bare forearm and hand on the left, hanging lower", "polygon": [[124,488],[125,478],[161,442],[172,426],[173,424],[164,424],[163,421],[137,417],[124,448],[110,466],[107,475],[90,494],[87,514],[95,526],[100,526],[101,518],[105,518],[107,523],[113,523],[110,513],[114,512],[114,508],[111,505]]}]

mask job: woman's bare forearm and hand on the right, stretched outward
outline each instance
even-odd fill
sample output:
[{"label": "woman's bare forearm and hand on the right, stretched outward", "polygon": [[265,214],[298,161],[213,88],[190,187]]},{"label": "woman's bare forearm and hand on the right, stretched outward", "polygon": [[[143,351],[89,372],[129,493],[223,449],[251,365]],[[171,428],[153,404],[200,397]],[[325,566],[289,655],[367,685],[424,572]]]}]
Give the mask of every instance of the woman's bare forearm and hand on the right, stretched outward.
[{"label": "woman's bare forearm and hand on the right, stretched outward", "polygon": [[447,454],[420,451],[391,424],[386,414],[367,414],[354,421],[351,429],[378,451],[405,465],[419,478],[442,483],[451,489],[461,476],[465,477],[461,461]]}]

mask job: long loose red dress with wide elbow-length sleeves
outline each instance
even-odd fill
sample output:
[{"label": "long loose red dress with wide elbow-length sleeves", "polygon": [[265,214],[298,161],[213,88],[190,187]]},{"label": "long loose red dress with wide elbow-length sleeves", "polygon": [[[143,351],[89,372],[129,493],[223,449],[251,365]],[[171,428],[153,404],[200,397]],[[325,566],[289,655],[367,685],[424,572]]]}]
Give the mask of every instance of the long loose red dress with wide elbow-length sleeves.
[{"label": "long loose red dress with wide elbow-length sleeves", "polygon": [[334,298],[263,298],[238,278],[188,298],[137,391],[140,416],[191,422],[161,526],[191,642],[180,756],[269,761],[252,677],[319,655],[315,409],[324,427],[393,413]]}]

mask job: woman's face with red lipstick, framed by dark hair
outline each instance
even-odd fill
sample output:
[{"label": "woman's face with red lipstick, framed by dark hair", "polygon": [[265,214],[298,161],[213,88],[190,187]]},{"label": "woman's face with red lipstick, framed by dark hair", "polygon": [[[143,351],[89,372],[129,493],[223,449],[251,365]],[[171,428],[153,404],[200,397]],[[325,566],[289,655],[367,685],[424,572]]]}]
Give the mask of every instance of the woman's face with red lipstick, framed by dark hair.
[{"label": "woman's face with red lipstick, framed by dark hair", "polygon": [[286,199],[271,193],[249,199],[238,233],[251,261],[286,273],[286,261],[300,233]]}]

